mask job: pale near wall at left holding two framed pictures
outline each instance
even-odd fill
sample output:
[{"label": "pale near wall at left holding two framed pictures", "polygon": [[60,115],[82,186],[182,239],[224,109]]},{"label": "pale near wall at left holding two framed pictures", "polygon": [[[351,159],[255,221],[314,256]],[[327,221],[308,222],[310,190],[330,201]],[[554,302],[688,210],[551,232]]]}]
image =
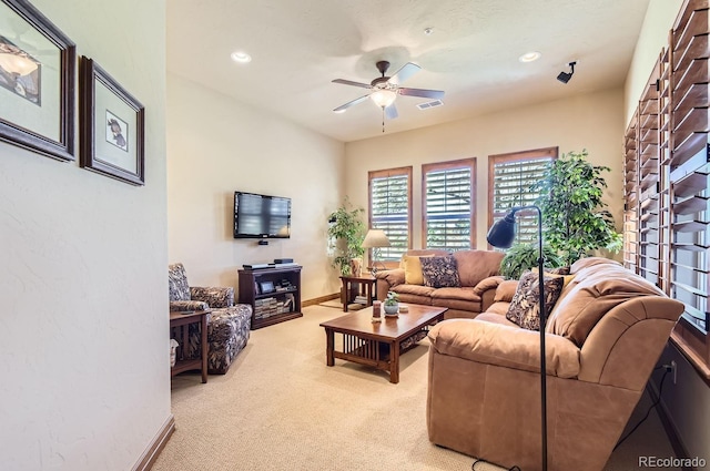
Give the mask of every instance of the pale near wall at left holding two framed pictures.
[{"label": "pale near wall at left holding two framed pictures", "polygon": [[145,106],[146,184],[0,143],[0,468],[124,471],[170,418],[165,3],[32,3]]}]

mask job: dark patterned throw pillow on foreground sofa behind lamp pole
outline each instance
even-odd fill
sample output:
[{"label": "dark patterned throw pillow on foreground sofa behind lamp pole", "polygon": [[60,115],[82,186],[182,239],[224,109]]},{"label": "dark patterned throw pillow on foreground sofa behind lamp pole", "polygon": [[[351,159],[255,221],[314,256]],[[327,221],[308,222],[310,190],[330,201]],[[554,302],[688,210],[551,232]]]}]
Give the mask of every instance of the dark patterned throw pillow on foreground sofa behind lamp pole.
[{"label": "dark patterned throw pillow on foreground sofa behind lamp pole", "polygon": [[[555,303],[562,293],[565,278],[561,276],[545,277],[545,314],[549,315]],[[518,289],[513,296],[506,319],[517,324],[524,329],[540,329],[540,287],[539,275],[526,272],[520,277]]]}]

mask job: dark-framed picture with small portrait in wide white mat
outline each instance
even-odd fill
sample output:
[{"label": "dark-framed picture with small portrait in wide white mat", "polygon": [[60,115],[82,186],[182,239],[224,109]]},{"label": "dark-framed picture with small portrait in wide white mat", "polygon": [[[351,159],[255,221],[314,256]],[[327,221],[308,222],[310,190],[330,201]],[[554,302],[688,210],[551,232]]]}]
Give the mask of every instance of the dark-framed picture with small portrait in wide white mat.
[{"label": "dark-framed picture with small portrait in wide white mat", "polygon": [[92,59],[79,63],[81,166],[143,185],[144,107]]}]

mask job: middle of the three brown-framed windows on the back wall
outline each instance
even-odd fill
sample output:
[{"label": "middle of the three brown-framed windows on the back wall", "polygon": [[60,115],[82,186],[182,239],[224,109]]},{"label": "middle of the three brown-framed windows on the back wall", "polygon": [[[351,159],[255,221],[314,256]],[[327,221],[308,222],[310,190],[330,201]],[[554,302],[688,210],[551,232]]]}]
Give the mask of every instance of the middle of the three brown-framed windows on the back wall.
[{"label": "middle of the three brown-framed windows on the back wall", "polygon": [[474,248],[476,158],[422,165],[422,240],[426,248]]}]

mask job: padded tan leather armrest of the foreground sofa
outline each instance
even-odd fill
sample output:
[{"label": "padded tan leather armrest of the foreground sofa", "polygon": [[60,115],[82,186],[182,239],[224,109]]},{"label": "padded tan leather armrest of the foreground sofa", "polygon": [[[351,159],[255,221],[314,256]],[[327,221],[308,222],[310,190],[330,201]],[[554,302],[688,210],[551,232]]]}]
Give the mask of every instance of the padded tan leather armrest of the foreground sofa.
[{"label": "padded tan leather armrest of the foreground sofa", "polygon": [[[448,319],[429,331],[432,348],[438,354],[485,365],[524,371],[540,371],[540,334],[503,324],[476,319]],[[579,348],[554,334],[545,335],[547,375],[576,378],[580,368]]]}]

